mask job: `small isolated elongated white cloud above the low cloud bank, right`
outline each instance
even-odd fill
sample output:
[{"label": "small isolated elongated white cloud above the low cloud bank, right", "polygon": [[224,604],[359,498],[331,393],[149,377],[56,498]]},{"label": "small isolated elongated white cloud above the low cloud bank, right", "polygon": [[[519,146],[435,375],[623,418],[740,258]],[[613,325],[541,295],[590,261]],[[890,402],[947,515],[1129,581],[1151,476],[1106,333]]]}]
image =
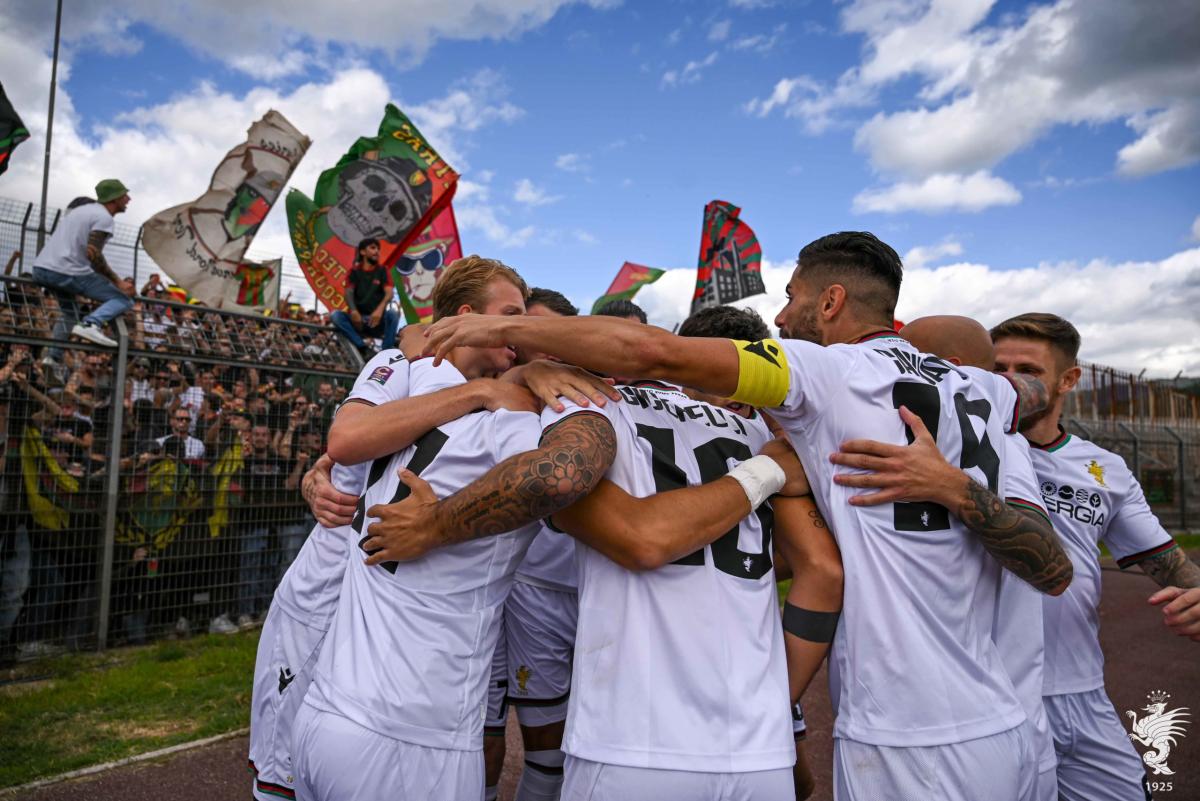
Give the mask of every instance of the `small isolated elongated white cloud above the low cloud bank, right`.
[{"label": "small isolated elongated white cloud above the low cloud bank, right", "polygon": [[901,181],[893,186],[863,189],[854,195],[857,213],[880,211],[983,211],[989,206],[1020,203],[1021,193],[1008,181],[979,170],[971,175],[944,173],[923,181]]}]

